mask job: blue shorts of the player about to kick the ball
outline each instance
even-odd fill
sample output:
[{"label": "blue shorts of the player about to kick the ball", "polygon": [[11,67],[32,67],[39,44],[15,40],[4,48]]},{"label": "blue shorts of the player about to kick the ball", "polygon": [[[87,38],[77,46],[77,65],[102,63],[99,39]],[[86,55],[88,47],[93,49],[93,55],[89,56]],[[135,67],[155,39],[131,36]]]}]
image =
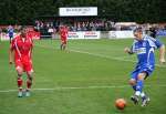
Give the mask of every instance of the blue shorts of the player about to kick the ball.
[{"label": "blue shorts of the player about to kick the ball", "polygon": [[136,66],[135,70],[131,73],[131,77],[137,80],[138,74],[142,72],[146,72],[147,74],[146,76],[149,76],[154,70],[155,70],[154,65],[142,65],[142,66],[139,65]]}]

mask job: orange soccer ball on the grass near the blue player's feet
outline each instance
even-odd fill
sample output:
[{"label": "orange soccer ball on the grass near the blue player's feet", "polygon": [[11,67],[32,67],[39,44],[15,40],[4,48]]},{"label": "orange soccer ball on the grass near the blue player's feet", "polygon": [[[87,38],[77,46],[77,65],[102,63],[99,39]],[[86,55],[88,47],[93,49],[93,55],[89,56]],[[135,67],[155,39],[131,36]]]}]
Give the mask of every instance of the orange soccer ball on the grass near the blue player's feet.
[{"label": "orange soccer ball on the grass near the blue player's feet", "polygon": [[124,110],[125,106],[126,106],[126,101],[124,99],[117,99],[115,101],[115,106],[118,108],[118,110]]}]

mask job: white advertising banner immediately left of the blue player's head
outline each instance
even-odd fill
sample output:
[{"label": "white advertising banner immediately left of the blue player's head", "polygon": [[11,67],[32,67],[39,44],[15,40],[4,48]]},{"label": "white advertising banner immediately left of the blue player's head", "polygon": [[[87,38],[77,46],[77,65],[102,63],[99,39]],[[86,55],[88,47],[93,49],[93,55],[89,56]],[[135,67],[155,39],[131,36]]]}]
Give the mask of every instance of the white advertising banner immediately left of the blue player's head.
[{"label": "white advertising banner immediately left of the blue player's head", "polygon": [[134,38],[133,31],[110,31],[108,32],[110,39],[128,39]]}]

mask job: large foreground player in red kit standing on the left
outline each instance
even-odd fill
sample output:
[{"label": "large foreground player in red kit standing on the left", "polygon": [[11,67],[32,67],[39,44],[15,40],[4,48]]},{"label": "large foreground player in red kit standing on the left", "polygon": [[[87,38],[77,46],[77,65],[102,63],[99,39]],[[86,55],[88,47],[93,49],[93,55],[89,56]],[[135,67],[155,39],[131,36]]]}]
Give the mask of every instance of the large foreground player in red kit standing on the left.
[{"label": "large foreground player in red kit standing on the left", "polygon": [[33,73],[32,48],[33,48],[32,38],[27,33],[24,28],[20,30],[20,34],[12,40],[10,45],[9,62],[10,64],[12,64],[14,60],[15,70],[18,73],[19,97],[23,96],[22,92],[23,72],[27,73],[25,96],[30,96],[30,89],[32,85],[32,73]]}]

